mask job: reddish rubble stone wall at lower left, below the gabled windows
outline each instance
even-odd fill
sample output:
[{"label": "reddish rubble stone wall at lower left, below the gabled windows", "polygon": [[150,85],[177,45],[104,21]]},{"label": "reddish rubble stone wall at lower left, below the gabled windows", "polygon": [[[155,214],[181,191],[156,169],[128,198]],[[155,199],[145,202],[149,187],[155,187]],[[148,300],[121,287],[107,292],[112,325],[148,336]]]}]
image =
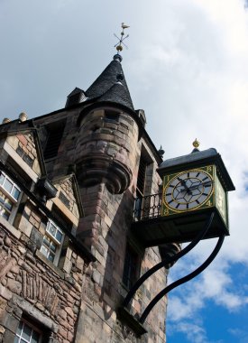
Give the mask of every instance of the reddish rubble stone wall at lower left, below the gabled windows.
[{"label": "reddish rubble stone wall at lower left, below the gabled windows", "polygon": [[82,292],[83,259],[68,249],[66,259],[70,270],[63,273],[39,252],[35,254],[28,242],[25,234],[17,239],[0,225],[0,338],[5,343],[13,342],[25,314],[50,332],[50,342],[73,342]]}]

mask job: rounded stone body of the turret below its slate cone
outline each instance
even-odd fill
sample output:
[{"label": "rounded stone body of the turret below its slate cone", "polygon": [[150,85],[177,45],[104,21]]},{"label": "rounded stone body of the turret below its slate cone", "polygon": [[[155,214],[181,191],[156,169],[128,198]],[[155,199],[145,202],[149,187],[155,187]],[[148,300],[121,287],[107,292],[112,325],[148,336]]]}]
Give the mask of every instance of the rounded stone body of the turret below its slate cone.
[{"label": "rounded stone body of the turret below its slate cone", "polygon": [[105,181],[110,191],[119,193],[126,190],[132,180],[131,146],[137,143],[138,126],[132,116],[115,107],[114,110],[117,117],[113,120],[106,116],[107,110],[104,109],[82,117],[75,162],[81,185]]}]

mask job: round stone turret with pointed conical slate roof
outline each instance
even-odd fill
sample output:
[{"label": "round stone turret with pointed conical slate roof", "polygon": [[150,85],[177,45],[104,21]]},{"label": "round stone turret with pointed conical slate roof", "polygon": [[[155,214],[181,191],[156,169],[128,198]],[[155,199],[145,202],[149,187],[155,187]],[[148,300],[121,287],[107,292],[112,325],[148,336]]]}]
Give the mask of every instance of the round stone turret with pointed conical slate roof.
[{"label": "round stone turret with pointed conical slate roof", "polygon": [[106,70],[87,89],[87,104],[78,116],[76,165],[79,183],[105,183],[112,193],[122,193],[132,181],[135,150],[142,123],[133,109],[116,54]]}]

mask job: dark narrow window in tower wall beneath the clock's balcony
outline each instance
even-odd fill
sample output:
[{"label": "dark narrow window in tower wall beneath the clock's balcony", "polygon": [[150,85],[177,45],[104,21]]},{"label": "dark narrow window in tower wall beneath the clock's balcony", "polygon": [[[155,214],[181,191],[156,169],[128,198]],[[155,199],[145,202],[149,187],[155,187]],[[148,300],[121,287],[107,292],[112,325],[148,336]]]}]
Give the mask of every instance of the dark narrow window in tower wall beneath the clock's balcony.
[{"label": "dark narrow window in tower wall beneath the clock's balcony", "polygon": [[123,283],[130,290],[140,276],[141,257],[137,251],[127,244],[124,257]]}]

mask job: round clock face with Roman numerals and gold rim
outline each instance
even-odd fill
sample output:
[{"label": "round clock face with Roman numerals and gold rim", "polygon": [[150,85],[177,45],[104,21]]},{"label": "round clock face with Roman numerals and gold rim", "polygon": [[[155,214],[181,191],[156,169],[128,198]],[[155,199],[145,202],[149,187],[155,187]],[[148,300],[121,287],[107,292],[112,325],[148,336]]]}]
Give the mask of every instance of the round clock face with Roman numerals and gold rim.
[{"label": "round clock face with Roman numerals and gold rim", "polygon": [[[212,166],[207,168],[211,172]],[[166,207],[181,212],[197,209],[207,203],[214,190],[213,178],[209,172],[194,169],[180,172],[170,179],[163,193]],[[211,202],[207,205],[211,206]]]}]

